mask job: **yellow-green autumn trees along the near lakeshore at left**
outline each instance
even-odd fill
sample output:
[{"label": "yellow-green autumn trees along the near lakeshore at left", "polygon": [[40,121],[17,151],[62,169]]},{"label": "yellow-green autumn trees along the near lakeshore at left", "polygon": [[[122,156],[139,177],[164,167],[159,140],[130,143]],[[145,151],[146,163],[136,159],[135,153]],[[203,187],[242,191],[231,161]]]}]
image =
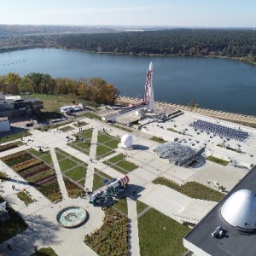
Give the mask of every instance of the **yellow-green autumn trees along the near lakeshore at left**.
[{"label": "yellow-green autumn trees along the near lakeshore at left", "polygon": [[75,96],[85,101],[110,105],[113,105],[119,96],[119,90],[101,78],[54,79],[44,73],[29,73],[24,77],[17,73],[0,76],[0,91],[14,95],[31,92]]}]

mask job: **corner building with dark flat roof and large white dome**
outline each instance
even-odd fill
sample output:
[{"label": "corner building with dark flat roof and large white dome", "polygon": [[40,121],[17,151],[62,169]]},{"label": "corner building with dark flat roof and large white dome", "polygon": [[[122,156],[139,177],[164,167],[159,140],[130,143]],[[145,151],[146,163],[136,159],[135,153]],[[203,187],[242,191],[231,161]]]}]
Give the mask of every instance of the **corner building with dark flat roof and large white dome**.
[{"label": "corner building with dark flat roof and large white dome", "polygon": [[193,255],[256,255],[256,167],[183,238]]}]

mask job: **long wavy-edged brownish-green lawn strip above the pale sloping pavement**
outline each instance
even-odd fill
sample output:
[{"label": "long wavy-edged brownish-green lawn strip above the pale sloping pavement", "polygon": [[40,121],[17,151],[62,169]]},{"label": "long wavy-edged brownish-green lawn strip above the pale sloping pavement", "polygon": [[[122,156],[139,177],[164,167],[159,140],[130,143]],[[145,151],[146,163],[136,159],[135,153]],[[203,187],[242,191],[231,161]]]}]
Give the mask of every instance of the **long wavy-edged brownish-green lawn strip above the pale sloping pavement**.
[{"label": "long wavy-edged brownish-green lawn strip above the pale sloping pavement", "polygon": [[183,195],[188,195],[191,198],[207,200],[207,201],[221,201],[224,198],[224,194],[210,189],[207,186],[202,185],[201,183],[188,182],[183,186],[179,186],[176,183],[172,183],[171,180],[166,179],[165,177],[157,177],[154,179],[153,183],[165,185],[171,189],[174,189]]}]

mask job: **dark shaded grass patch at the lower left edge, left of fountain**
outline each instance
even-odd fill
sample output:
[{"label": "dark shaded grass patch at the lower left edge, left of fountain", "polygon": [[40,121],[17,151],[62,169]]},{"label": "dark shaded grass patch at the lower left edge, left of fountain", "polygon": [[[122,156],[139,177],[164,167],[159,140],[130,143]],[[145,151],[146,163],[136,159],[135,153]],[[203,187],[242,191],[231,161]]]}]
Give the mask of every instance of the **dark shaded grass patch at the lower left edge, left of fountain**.
[{"label": "dark shaded grass patch at the lower left edge, left of fountain", "polygon": [[[0,196],[0,202],[3,201],[3,198]],[[9,240],[13,236],[17,236],[28,227],[23,218],[12,207],[9,207],[9,204],[7,204],[7,210],[10,219],[0,224],[0,243]]]}]

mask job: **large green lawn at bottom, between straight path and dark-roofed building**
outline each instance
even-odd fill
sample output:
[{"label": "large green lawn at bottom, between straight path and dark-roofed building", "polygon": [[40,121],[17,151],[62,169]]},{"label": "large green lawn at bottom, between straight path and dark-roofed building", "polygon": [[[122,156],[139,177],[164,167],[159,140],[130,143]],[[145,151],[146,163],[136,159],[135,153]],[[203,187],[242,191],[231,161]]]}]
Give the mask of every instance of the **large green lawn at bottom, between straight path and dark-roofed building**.
[{"label": "large green lawn at bottom, between straight path and dark-roofed building", "polygon": [[183,236],[189,227],[177,223],[154,208],[138,218],[141,256],[182,255]]}]

